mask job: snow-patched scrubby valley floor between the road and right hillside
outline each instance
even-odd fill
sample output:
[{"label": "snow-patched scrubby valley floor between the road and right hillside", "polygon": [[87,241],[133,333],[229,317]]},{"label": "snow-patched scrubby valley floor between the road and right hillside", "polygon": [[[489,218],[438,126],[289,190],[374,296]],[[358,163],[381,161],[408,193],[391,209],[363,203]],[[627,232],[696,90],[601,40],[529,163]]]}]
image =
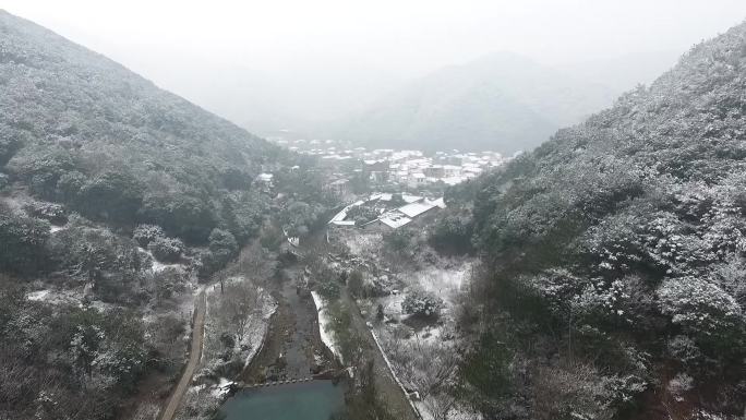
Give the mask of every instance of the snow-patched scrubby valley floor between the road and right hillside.
[{"label": "snow-patched scrubby valley floor between the road and right hillside", "polygon": [[[406,259],[392,257],[380,233],[358,229],[347,229],[335,238],[351,254],[334,257],[336,264],[344,269],[360,271],[366,286],[375,290],[372,296],[357,299],[345,293],[359,308],[356,323],[375,337],[382,350],[382,365],[390,368],[397,387],[408,395],[418,416],[453,420],[479,418],[445,391],[456,380],[460,350],[455,313],[458,298],[468,287],[476,261],[440,257],[429,249],[416,250]],[[422,259],[422,254],[428,257]],[[443,300],[437,319],[422,320],[402,311],[405,298],[416,290]]]}]

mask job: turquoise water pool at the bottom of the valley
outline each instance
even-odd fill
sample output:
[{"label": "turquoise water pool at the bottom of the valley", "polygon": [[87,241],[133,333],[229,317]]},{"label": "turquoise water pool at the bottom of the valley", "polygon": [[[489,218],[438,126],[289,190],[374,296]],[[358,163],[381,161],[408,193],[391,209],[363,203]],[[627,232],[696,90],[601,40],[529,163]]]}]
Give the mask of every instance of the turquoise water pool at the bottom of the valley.
[{"label": "turquoise water pool at the bottom of the valley", "polygon": [[312,381],[241,391],[220,412],[226,420],[329,420],[344,409],[342,385]]}]

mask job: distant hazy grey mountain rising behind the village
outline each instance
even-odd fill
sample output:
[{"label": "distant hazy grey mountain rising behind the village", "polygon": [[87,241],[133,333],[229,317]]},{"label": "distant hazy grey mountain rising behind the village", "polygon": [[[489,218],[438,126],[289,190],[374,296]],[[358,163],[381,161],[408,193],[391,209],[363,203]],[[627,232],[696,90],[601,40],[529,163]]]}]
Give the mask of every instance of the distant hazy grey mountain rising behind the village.
[{"label": "distant hazy grey mountain rising behind the village", "polygon": [[512,154],[612,99],[603,86],[501,52],[419,79],[328,134],[372,146]]}]

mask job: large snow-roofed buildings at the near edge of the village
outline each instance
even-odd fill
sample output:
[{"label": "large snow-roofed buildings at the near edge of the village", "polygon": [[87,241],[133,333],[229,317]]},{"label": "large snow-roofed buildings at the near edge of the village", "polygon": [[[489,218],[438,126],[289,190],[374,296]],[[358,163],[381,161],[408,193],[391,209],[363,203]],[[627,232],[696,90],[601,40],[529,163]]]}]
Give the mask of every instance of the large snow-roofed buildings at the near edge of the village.
[{"label": "large snow-roofed buildings at the near edge of the village", "polygon": [[[356,209],[360,208],[365,208],[366,213],[373,217],[362,220],[350,217]],[[419,195],[376,193],[347,205],[328,224],[335,227],[357,227],[366,230],[398,229],[416,220],[428,219],[441,208],[445,208],[443,197],[429,200]]]}]

